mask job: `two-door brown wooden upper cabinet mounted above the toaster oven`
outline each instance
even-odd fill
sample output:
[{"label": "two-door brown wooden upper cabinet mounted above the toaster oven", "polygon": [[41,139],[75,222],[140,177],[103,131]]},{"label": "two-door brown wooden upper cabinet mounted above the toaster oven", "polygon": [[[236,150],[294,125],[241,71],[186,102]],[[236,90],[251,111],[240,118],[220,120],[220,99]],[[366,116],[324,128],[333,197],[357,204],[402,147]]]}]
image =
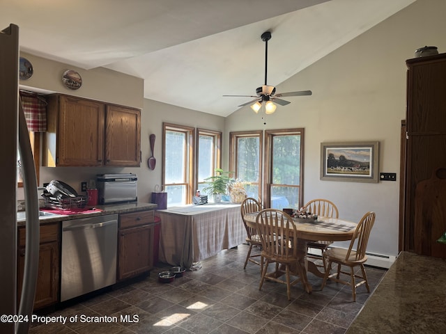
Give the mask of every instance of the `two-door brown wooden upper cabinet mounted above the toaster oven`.
[{"label": "two-door brown wooden upper cabinet mounted above the toaster oven", "polygon": [[43,166],[139,166],[141,111],[49,95]]}]

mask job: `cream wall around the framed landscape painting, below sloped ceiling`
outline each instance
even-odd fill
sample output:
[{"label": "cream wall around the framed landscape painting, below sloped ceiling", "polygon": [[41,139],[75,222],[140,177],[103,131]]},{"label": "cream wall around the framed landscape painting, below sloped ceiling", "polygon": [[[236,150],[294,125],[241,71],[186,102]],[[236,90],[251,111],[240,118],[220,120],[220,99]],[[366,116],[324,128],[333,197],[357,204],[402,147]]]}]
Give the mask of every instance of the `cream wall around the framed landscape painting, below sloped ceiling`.
[{"label": "cream wall around the framed landscape painting, below sloped ceiling", "polygon": [[[264,126],[249,107],[226,118],[228,132],[304,127],[304,202],[328,198],[336,203],[341,218],[352,221],[358,221],[365,212],[376,212],[367,248],[372,253],[398,253],[400,128],[401,120],[406,118],[405,61],[424,45],[446,51],[444,13],[446,1],[418,0],[307,67],[279,85],[277,91],[309,89],[313,95],[286,98],[291,104],[278,106],[272,116],[267,116]],[[397,182],[320,180],[320,145],[336,141],[379,141],[379,170],[397,173]]]}]

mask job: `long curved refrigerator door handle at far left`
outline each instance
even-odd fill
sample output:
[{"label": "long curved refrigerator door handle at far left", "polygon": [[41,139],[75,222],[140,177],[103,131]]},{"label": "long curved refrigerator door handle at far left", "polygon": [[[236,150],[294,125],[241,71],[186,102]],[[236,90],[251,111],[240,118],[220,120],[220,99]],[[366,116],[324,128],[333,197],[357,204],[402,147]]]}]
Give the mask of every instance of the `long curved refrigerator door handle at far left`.
[{"label": "long curved refrigerator door handle at far left", "polygon": [[[38,274],[40,226],[36,168],[34,167],[33,154],[31,152],[31,143],[29,141],[28,127],[26,126],[22,100],[19,100],[19,150],[20,159],[22,160],[25,195],[26,248],[22,296],[20,296],[18,314],[31,317]],[[17,334],[28,333],[29,324],[30,321],[19,322],[16,328]]]}]

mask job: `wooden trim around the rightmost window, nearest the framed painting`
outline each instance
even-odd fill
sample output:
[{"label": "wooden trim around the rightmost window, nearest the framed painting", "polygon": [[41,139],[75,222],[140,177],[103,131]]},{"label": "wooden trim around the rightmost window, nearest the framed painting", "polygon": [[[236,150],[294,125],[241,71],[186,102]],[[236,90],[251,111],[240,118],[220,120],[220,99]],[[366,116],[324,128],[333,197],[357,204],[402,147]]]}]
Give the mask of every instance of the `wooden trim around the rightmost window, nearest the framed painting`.
[{"label": "wooden trim around the rightmost window, nearest the framed painting", "polygon": [[303,127],[295,128],[295,129],[275,129],[275,130],[265,130],[266,136],[266,154],[265,154],[265,168],[268,172],[265,177],[265,187],[263,192],[263,198],[266,202],[266,198],[268,198],[268,207],[271,206],[271,198],[270,198],[270,189],[272,184],[272,139],[275,136],[283,136],[287,134],[300,134],[300,180],[299,180],[299,207],[303,205],[303,196],[304,196],[304,157],[305,157],[305,129]]}]

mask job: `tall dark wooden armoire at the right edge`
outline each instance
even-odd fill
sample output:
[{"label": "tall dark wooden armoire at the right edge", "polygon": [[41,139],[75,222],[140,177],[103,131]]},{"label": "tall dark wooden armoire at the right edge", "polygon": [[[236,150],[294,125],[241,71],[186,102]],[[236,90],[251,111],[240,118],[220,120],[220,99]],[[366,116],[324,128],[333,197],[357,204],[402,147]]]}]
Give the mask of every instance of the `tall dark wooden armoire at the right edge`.
[{"label": "tall dark wooden armoire at the right edge", "polygon": [[446,258],[446,54],[406,64],[403,249]]}]

